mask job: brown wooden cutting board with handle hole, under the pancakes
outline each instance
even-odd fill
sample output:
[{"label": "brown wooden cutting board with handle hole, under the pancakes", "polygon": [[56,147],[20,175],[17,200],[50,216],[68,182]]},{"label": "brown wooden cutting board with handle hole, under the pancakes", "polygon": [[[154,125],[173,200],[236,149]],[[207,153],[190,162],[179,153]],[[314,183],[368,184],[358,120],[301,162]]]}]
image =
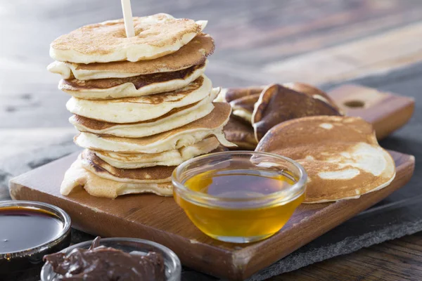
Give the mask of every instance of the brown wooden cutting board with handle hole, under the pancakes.
[{"label": "brown wooden cutting board with handle hole, under the pancakes", "polygon": [[[414,105],[409,98],[385,95],[360,86],[336,89],[333,98],[345,107],[349,115],[359,114],[373,122],[378,136],[385,136],[407,122]],[[363,107],[346,106],[362,103]],[[253,244],[212,240],[196,229],[169,197],[126,195],[108,200],[91,197],[82,188],[68,197],[60,195],[63,174],[76,159],[77,153],[13,178],[10,192],[15,200],[48,202],[63,208],[70,214],[72,226],[79,230],[103,237],[153,240],[176,252],[185,266],[231,280],[243,280],[407,183],[414,171],[414,157],[390,153],[395,159],[397,175],[387,188],[357,200],[302,204],[279,233]]]}]

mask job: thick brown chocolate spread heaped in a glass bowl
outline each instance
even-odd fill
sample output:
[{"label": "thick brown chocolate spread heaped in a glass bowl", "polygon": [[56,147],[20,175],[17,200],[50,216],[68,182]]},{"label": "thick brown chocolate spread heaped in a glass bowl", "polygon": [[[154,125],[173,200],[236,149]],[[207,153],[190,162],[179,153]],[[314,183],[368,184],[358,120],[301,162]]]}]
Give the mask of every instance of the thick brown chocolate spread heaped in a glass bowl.
[{"label": "thick brown chocolate spread heaped in a glass bowl", "polygon": [[99,246],[100,237],[89,249],[73,249],[70,254],[56,253],[44,256],[53,271],[61,275],[55,280],[143,280],[164,281],[164,259],[150,251],[145,256],[128,254],[119,249]]}]

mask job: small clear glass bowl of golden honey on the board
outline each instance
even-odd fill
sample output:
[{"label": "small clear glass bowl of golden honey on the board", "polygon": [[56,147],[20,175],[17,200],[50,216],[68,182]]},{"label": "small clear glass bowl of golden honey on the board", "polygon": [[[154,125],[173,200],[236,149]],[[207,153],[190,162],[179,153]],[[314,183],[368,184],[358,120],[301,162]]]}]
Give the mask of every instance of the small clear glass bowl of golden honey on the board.
[{"label": "small clear glass bowl of golden honey on the board", "polygon": [[[260,196],[252,192],[248,197],[220,197],[196,191],[201,187],[192,190],[186,186],[194,176],[230,170],[283,174],[291,181],[279,191]],[[174,200],[193,224],[212,238],[234,243],[255,242],[277,233],[302,203],[306,181],[305,169],[292,159],[252,151],[218,152],[189,159],[172,174]]]}]

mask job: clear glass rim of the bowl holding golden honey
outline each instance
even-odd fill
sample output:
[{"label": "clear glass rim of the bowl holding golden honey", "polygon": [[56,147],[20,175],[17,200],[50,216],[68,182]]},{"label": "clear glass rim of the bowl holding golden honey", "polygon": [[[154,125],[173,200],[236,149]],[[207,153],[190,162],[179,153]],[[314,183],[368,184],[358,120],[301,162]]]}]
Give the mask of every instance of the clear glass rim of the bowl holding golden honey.
[{"label": "clear glass rim of the bowl holding golden honey", "polygon": [[[275,153],[269,153],[269,152],[257,152],[257,151],[250,151],[250,150],[236,150],[236,151],[223,151],[223,152],[215,152],[215,153],[209,153],[206,155],[201,155],[198,157],[194,157],[192,159],[188,159],[185,162],[179,164],[176,169],[174,169],[172,173],[172,183],[174,186],[174,192],[181,192],[181,196],[188,200],[193,200],[194,202],[198,202],[197,200],[207,200],[207,204],[210,206],[213,206],[212,202],[268,202],[268,200],[275,200],[278,199],[281,195],[284,195],[286,193],[286,190],[281,190],[279,192],[273,192],[269,195],[264,195],[262,197],[254,197],[254,198],[232,198],[232,197],[218,197],[214,195],[207,195],[203,192],[198,192],[191,190],[189,188],[186,188],[186,186],[181,183],[180,178],[182,171],[186,168],[186,166],[193,164],[195,162],[198,162],[203,159],[222,156],[222,155],[260,155],[260,156],[267,156],[272,157],[274,159],[282,160],[283,162],[288,162],[290,164],[293,164],[298,171],[299,171],[299,179],[294,183],[293,185],[288,188],[290,194],[287,197],[283,197],[283,200],[280,200],[278,204],[286,204],[288,202],[291,202],[295,200],[296,198],[300,197],[304,192],[306,188],[307,183],[307,172],[305,171],[305,168],[298,162],[295,162],[295,160],[290,159],[286,156],[277,155]],[[189,198],[186,198],[188,196]],[[197,199],[197,200],[196,200]],[[203,203],[201,203],[203,204]],[[265,207],[265,206],[261,206]]]}]

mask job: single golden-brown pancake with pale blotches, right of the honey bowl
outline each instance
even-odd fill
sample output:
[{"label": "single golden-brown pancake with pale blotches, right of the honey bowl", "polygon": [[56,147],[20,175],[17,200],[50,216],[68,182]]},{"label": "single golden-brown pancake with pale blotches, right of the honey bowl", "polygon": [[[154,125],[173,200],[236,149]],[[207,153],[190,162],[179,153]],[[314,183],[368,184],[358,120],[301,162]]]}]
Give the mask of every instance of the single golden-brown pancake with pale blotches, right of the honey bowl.
[{"label": "single golden-brown pancake with pale blotches, right of the honey bowl", "polygon": [[395,162],[358,117],[317,116],[274,126],[257,151],[295,159],[308,174],[304,203],[359,198],[388,186]]}]

